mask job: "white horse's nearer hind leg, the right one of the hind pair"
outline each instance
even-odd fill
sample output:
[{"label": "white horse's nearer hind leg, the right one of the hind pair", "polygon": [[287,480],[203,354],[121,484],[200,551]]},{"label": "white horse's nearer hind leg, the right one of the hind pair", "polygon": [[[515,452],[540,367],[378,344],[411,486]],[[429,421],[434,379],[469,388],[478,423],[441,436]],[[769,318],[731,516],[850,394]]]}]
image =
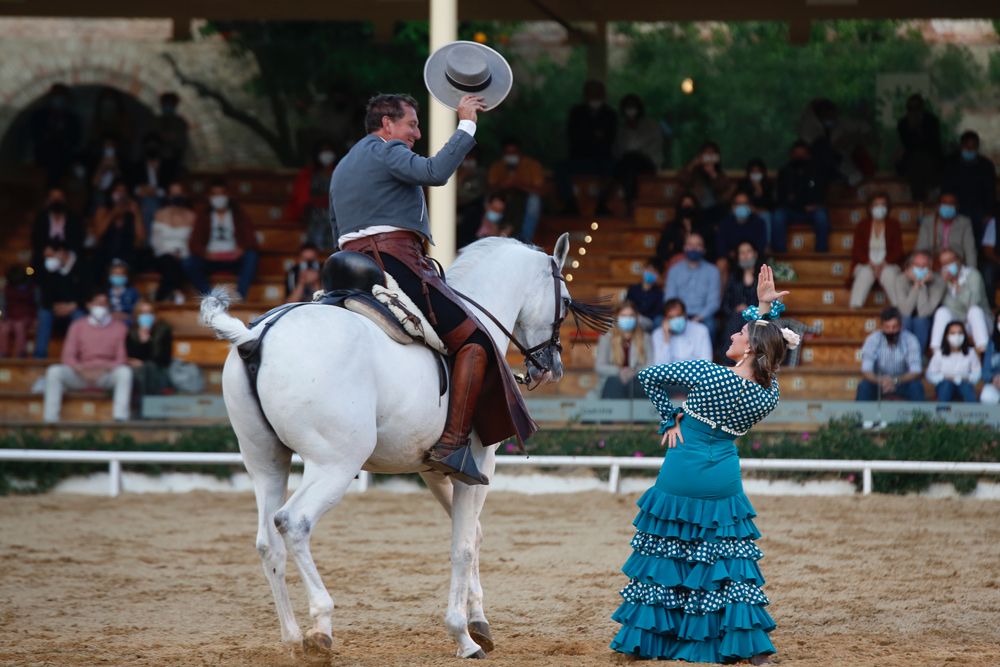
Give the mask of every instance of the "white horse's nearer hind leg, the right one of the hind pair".
[{"label": "white horse's nearer hind leg, the right one of the hind pair", "polygon": [[309,654],[327,654],[333,646],[333,598],[316,569],[309,538],[320,517],[343,499],[363,462],[353,462],[350,457],[330,464],[307,459],[302,486],[274,516],[274,525],[284,536],[309,595],[309,615],[314,625],[302,640]]}]

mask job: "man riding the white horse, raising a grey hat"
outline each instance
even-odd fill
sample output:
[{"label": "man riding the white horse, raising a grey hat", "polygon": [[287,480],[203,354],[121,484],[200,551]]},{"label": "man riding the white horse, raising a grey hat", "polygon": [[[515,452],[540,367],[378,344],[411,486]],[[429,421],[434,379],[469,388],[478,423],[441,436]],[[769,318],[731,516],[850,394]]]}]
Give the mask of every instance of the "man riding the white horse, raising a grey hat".
[{"label": "man riding the white horse, raising a grey hat", "polygon": [[442,102],[454,108],[457,101],[458,129],[436,155],[422,157],[413,152],[420,139],[416,101],[408,95],[373,97],[365,113],[368,135],[333,173],[330,222],[340,249],[374,259],[448,347],[447,420],[427,465],[466,484],[488,484],[469,453],[472,429],[490,445],[511,436],[523,442],[537,425],[503,352],[427,256],[433,239],[423,186],[444,185],[462,164],[476,143],[477,113],[495,107],[510,90],[510,68],[492,49],[456,42],[432,56],[425,80]]}]

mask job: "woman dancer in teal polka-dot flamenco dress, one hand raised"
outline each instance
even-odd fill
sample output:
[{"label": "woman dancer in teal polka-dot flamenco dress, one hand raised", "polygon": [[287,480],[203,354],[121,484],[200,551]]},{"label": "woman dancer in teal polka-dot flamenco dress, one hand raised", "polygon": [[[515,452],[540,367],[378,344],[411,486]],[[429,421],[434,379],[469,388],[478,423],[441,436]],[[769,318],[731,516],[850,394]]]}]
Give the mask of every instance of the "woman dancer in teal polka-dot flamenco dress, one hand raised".
[{"label": "woman dancer in teal polka-dot flamenco dress, one hand raised", "polygon": [[[735,366],[682,361],[641,371],[668,447],[656,483],[639,499],[629,583],[612,618],[615,651],[640,659],[766,664],[775,653],[764,609],[760,532],[743,493],[735,440],[778,403],[777,372],[798,336],[773,320],[784,305],[774,274],[761,267],[758,306],[731,337]],[[666,388],[687,388],[683,406]]]}]

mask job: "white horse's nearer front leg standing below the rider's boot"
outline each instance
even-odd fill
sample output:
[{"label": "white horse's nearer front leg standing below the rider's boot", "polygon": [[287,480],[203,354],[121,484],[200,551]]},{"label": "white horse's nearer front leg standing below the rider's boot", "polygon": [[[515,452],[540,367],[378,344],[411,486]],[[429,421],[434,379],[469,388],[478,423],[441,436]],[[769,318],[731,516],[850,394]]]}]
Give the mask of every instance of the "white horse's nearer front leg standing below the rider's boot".
[{"label": "white horse's nearer front leg standing below the rider's boot", "polygon": [[[478,443],[474,442],[474,450],[477,445]],[[494,461],[487,460],[492,458],[492,452],[480,451],[482,455],[476,457],[482,459],[477,461],[479,469],[489,468],[492,474]],[[468,486],[462,482],[454,483],[451,509],[451,590],[448,594],[445,625],[452,639],[458,644],[457,655],[460,658],[486,657],[484,647],[476,643],[469,634],[470,607],[477,607],[478,612],[474,613],[485,621],[482,613],[482,589],[479,588],[479,577],[476,572],[479,561],[479,512],[485,500],[485,487]],[[476,602],[470,598],[474,581],[478,589]],[[488,629],[489,626],[486,627]]]}]

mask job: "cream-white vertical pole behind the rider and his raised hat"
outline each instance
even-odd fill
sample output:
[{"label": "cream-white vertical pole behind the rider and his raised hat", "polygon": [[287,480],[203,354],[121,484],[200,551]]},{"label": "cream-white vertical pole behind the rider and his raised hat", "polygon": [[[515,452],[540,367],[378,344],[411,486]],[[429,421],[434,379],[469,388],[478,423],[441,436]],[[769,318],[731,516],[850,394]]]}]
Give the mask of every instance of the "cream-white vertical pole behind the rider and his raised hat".
[{"label": "cream-white vertical pole behind the rider and his raised hat", "polygon": [[[430,0],[431,3],[431,52],[458,39],[458,0]],[[458,124],[455,112],[428,97],[430,105],[430,133],[427,141],[428,153],[437,152],[452,134]],[[452,176],[445,185],[428,188],[430,192],[431,235],[434,246],[431,255],[445,267],[455,259],[455,208],[457,188]]]}]

